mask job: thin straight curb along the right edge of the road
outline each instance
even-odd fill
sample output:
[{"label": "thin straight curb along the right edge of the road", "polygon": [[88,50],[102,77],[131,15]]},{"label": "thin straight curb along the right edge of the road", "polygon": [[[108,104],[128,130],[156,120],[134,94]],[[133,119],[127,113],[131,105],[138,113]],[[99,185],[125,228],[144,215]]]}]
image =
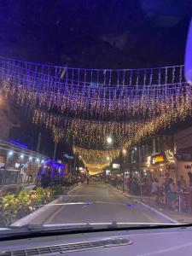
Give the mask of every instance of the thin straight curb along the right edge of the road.
[{"label": "thin straight curb along the right edge of the road", "polygon": [[129,197],[130,199],[134,199],[135,201],[137,201],[137,203],[141,204],[143,207],[148,208],[148,210],[150,210],[151,212],[154,212],[157,216],[159,216],[160,218],[165,218],[166,220],[170,221],[173,224],[178,224],[177,220],[168,217],[166,214],[159,212],[158,210],[154,209],[153,207],[149,207],[148,205],[146,205],[145,203],[143,203],[142,201],[137,200],[136,198],[132,198],[131,195],[128,195],[126,193],[124,193],[123,191],[114,188],[112,185],[108,184],[108,186],[112,189],[115,189],[116,191],[120,192],[122,195],[125,195],[126,197]]}]

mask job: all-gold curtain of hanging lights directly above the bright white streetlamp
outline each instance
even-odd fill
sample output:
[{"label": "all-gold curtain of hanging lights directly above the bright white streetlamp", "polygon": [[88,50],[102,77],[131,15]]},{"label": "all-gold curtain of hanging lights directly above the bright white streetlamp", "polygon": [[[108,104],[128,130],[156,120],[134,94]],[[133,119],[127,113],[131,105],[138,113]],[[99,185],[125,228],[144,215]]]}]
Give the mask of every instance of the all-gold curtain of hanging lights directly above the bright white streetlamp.
[{"label": "all-gold curtain of hanging lights directly above the bright white streetlamp", "polygon": [[[32,118],[36,124],[44,125],[58,137],[59,140],[74,139],[74,143],[87,148],[102,148],[108,135],[115,137],[116,147],[130,139],[142,123],[98,122],[84,119],[63,119],[60,115],[35,110]],[[79,136],[80,135],[80,136]]]}]

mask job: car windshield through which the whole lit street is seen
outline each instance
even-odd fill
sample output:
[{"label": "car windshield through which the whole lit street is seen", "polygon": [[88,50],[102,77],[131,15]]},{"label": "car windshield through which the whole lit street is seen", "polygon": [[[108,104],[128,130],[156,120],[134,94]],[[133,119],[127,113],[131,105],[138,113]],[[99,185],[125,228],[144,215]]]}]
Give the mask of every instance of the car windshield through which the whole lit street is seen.
[{"label": "car windshield through which the whole lit street is seen", "polygon": [[1,232],[192,223],[191,6],[2,1]]}]

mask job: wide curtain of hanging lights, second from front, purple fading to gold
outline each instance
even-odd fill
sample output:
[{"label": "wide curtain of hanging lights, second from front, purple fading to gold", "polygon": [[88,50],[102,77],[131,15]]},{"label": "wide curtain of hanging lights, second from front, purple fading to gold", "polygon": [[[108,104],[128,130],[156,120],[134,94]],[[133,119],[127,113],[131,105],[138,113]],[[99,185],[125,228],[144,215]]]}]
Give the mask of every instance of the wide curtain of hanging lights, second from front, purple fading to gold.
[{"label": "wide curtain of hanging lights, second from front, purple fading to gold", "polygon": [[[32,108],[38,107],[44,111],[57,111],[62,116],[70,116],[81,119],[111,120],[111,121],[135,121],[140,119],[154,119],[157,115],[164,114],[169,106],[177,107],[188,95],[192,98],[191,85],[189,84],[164,84],[162,88],[143,87],[140,91],[133,87],[127,96],[119,98],[103,99],[103,97],[91,95],[59,95],[48,92],[34,92],[26,90],[24,86],[13,86],[6,82],[4,90],[9,96],[16,96],[20,105],[24,102]],[[124,91],[124,90],[122,90]],[[115,92],[113,91],[113,94]],[[105,93],[103,92],[105,95]],[[111,93],[112,94],[112,93]]]}]

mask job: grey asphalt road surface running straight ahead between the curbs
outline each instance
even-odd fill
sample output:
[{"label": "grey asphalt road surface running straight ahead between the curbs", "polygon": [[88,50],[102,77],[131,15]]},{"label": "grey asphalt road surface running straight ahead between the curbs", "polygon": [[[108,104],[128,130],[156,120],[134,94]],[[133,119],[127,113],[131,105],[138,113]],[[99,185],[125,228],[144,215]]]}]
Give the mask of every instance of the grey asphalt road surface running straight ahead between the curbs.
[{"label": "grey asphalt road surface running straight ahead between the curbs", "polygon": [[[55,207],[54,211],[52,207]],[[47,207],[45,213],[42,213],[46,215],[42,224],[109,223],[113,221],[169,223],[165,218],[161,218],[134,199],[122,195],[108,184],[97,182],[80,185],[69,195],[64,195],[59,205]],[[39,219],[43,219],[42,217],[39,216]]]}]

